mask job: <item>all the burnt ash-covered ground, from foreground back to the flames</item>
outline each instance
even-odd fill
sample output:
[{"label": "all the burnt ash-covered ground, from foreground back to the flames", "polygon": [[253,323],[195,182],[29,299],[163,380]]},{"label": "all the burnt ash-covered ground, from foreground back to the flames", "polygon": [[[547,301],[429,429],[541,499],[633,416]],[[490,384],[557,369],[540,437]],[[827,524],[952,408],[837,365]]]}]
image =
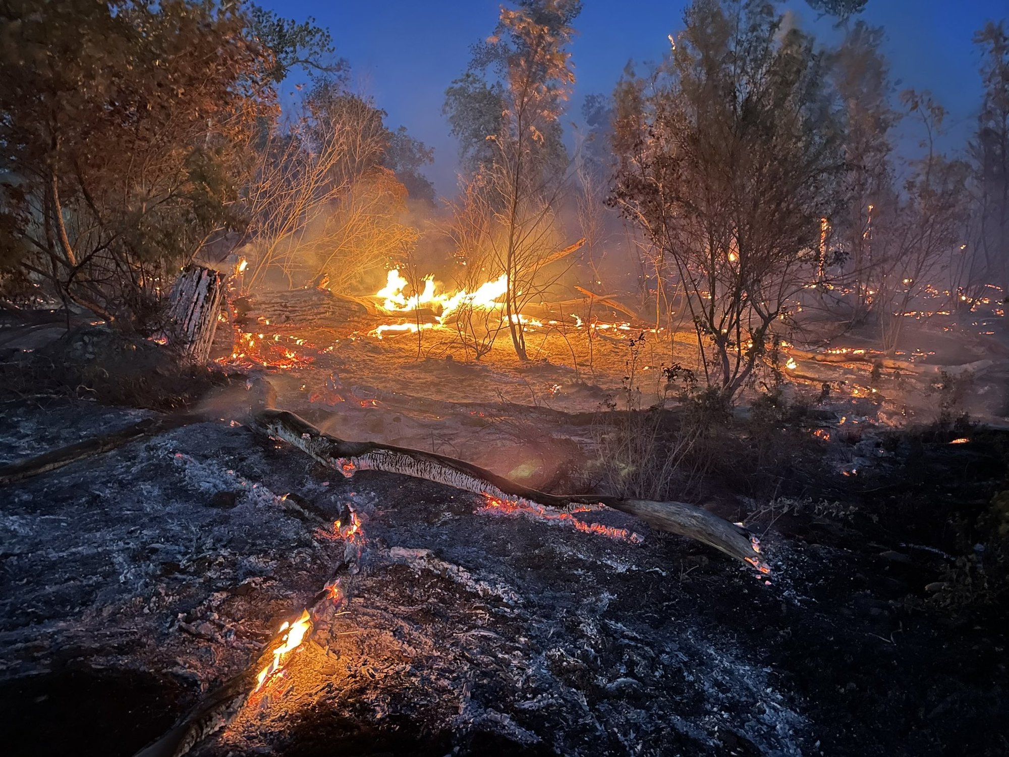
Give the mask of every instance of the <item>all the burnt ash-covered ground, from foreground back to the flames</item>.
[{"label": "all the burnt ash-covered ground, from foreground back to the flames", "polygon": [[[993,555],[972,546],[1009,491],[1009,435],[999,413],[987,428],[896,427],[991,408],[1005,361],[950,389],[800,360],[829,396],[764,426],[741,408],[703,495],[760,535],[765,583],[621,513],[577,517],[642,542],[394,474],[345,479],[241,423],[245,371],[265,372],[278,407],[342,438],[591,488],[606,409],[626,414],[638,389],[651,402],[654,337],[637,352],[631,337],[605,353],[600,341],[578,372],[550,352],[525,366],[417,359],[409,337],[351,325],[294,350],[301,337],[267,339],[281,364],[260,350],[194,377],[164,371],[152,342],[98,331],[12,358],[28,361],[4,373],[17,381],[0,397],[0,464],[157,417],[133,405],[207,420],[0,488],[9,753],[134,754],[256,665],[334,578],[349,603],[194,754],[1009,751],[1009,614],[988,601]],[[352,514],[361,530],[340,538],[333,523]]]}]

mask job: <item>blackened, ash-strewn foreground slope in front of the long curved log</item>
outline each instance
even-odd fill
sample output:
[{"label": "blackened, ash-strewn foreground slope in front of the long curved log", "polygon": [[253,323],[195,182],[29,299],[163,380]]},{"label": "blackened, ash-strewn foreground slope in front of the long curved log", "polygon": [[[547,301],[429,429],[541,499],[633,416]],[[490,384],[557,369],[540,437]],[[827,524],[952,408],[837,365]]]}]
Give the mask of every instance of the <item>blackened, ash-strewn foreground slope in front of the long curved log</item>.
[{"label": "blackened, ash-strewn foreground slope in front of the long curved log", "polygon": [[[0,447],[16,459],[139,417],[25,406]],[[923,755],[954,739],[982,754],[982,725],[1005,716],[1002,684],[979,677],[995,646],[894,610],[915,566],[878,545],[769,537],[765,584],[620,513],[579,517],[643,543],[345,479],[227,421],[2,493],[13,754],[132,754],[334,575],[346,610],[194,754]],[[320,530],[350,511],[354,543]]]}]

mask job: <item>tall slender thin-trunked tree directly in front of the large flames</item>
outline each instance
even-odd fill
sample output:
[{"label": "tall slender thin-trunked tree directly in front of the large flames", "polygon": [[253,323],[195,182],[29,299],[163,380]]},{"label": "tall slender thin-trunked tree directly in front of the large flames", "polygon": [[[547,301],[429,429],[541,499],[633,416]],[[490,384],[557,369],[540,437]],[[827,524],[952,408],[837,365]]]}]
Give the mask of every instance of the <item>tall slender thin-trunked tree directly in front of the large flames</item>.
[{"label": "tall slender thin-trunked tree directly in front of the large flames", "polygon": [[542,291],[556,248],[555,204],[568,164],[559,118],[574,84],[567,45],[580,9],[578,0],[502,7],[494,33],[474,46],[468,70],[446,92],[467,181],[490,193],[490,244],[507,276],[504,315],[522,360],[521,311]]}]

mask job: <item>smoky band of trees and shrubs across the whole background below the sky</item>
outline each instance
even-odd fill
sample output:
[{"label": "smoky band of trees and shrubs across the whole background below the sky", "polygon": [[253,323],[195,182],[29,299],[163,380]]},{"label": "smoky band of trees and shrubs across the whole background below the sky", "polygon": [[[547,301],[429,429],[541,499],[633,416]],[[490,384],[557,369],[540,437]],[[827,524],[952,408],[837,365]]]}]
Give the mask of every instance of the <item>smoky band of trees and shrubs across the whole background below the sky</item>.
[{"label": "smoky band of trees and shrubs across the whole background below the sky", "polygon": [[[810,5],[838,20],[835,48],[774,3],[697,0],[665,61],[586,99],[570,152],[581,5],[506,6],[447,88],[463,171],[438,200],[423,176],[432,151],[348,86],[311,19],[185,0],[8,2],[4,291],[153,330],[193,259],[238,250],[246,290],[350,294],[409,261],[457,291],[503,277],[499,313],[455,312],[469,358],[507,331],[527,360],[525,311],[563,301],[591,323],[615,295],[670,344],[692,326],[698,374],[725,401],[777,370],[803,309],[896,352],[923,295],[963,310],[1009,285],[1005,25],[977,34],[977,129],[943,154],[941,105],[895,92],[883,30],[856,18],[865,2]],[[50,49],[69,64],[46,63]],[[292,70],[309,81],[282,112]],[[901,124],[923,134],[910,157],[894,146]]]}]

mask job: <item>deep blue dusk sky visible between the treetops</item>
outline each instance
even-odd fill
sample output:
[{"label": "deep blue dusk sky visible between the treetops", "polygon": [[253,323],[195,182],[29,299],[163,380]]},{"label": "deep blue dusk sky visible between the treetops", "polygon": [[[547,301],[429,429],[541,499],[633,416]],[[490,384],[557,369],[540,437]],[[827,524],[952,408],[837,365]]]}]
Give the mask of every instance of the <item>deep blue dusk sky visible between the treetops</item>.
[{"label": "deep blue dusk sky visible between the treetops", "polygon": [[[351,66],[354,87],[435,148],[427,174],[440,193],[455,187],[457,146],[442,115],[445,88],[465,69],[469,46],[494,27],[499,0],[264,0],[281,15],[314,16],[330,29]],[[581,101],[612,90],[628,61],[659,60],[682,26],[684,0],[583,0],[572,45],[577,76],[568,120]],[[786,3],[801,26],[829,42],[838,32],[802,0]],[[969,135],[981,97],[972,38],[986,20],[1005,18],[1007,0],[869,0],[868,23],[886,30],[886,52],[899,87],[930,90],[949,113],[950,148]]]}]

